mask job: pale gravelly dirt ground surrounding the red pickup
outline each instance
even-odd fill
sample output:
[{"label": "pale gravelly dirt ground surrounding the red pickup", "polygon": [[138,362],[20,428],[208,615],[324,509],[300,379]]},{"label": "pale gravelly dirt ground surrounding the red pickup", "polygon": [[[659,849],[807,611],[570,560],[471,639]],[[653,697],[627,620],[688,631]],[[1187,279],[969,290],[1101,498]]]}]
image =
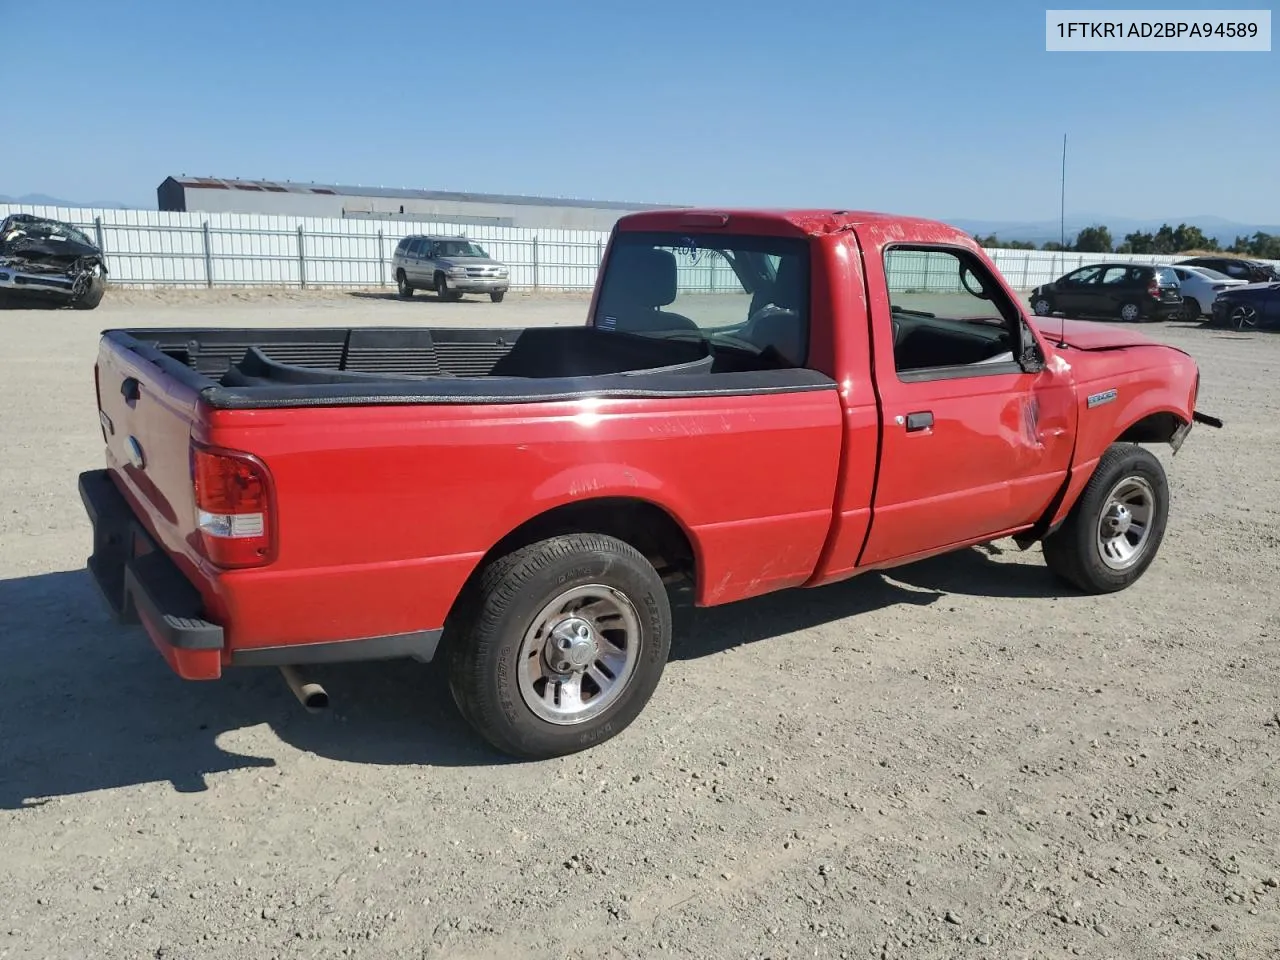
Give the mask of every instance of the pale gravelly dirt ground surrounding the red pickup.
[{"label": "pale gravelly dirt ground surrounding the red pickup", "polygon": [[420,664],[170,675],[87,576],[97,333],[579,323],[582,297],[0,312],[0,957],[1280,956],[1280,337],[1201,362],[1133,589],[1009,543],[701,611],[654,700],[506,762]]}]

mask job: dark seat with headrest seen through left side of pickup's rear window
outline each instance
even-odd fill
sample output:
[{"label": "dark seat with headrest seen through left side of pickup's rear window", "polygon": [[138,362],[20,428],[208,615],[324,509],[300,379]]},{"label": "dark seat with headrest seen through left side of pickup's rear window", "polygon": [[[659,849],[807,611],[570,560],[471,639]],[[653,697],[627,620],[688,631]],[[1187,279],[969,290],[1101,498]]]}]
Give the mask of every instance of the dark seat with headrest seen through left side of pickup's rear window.
[{"label": "dark seat with headrest seen through left side of pickup's rear window", "polygon": [[662,307],[676,300],[676,256],[620,244],[609,253],[595,325],[627,333],[698,332],[698,324]]}]

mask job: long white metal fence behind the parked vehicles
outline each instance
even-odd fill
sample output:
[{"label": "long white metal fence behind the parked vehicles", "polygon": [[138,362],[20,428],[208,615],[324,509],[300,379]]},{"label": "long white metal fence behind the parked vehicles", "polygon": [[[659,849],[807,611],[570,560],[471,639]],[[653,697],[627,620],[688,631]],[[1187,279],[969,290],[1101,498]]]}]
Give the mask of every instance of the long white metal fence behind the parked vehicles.
[{"label": "long white metal fence behind the parked vehicles", "polygon": [[[0,218],[28,212],[64,220],[106,251],[113,283],[136,287],[390,287],[390,259],[412,233],[465,233],[511,268],[517,289],[589,289],[608,233],[460,225],[412,220],[329,219],[266,214],[170,214],[157,210],[91,210],[0,204]],[[1015,289],[1027,291],[1101,259],[1169,264],[1178,257],[988,250]],[[956,289],[947,273],[929,275],[910,261],[891,285]],[[897,275],[901,273],[901,275]],[[736,284],[714,260],[681,269],[681,289],[714,292]]]}]

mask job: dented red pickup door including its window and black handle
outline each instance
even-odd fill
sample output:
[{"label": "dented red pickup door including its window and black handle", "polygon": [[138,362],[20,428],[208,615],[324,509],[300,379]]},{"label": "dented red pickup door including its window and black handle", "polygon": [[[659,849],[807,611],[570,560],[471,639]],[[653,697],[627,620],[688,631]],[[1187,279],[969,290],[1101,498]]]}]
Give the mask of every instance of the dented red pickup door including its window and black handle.
[{"label": "dented red pickup door including its window and black handle", "polygon": [[870,301],[882,440],[858,566],[1032,525],[1070,463],[1066,374],[1044,367],[1016,301],[972,251],[859,237],[869,285],[888,297]]}]

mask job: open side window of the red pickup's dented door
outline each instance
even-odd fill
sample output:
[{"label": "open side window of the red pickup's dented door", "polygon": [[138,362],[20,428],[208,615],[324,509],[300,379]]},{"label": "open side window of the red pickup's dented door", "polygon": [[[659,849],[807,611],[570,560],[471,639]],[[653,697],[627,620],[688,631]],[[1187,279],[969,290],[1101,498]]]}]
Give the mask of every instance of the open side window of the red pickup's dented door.
[{"label": "open side window of the red pickup's dented door", "polygon": [[[965,250],[884,251],[893,364],[904,379],[1020,369],[1023,321],[982,261]],[[1010,366],[1012,365],[1012,367]]]}]

